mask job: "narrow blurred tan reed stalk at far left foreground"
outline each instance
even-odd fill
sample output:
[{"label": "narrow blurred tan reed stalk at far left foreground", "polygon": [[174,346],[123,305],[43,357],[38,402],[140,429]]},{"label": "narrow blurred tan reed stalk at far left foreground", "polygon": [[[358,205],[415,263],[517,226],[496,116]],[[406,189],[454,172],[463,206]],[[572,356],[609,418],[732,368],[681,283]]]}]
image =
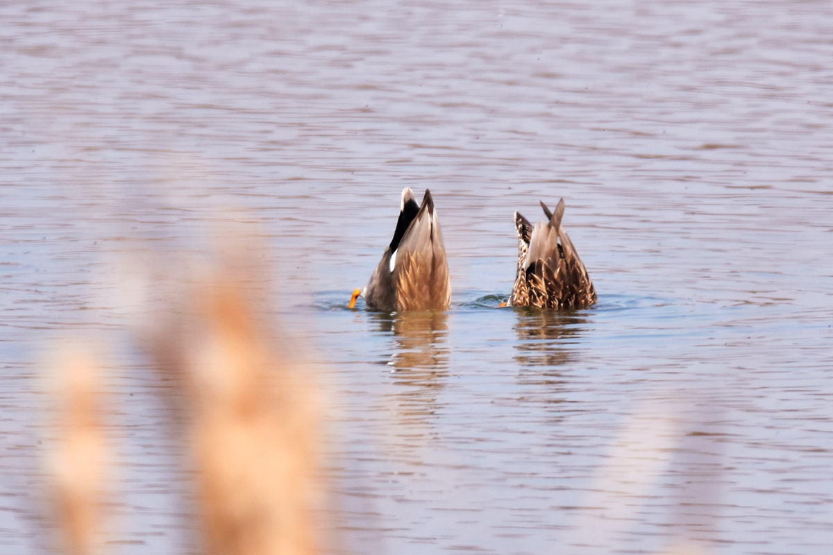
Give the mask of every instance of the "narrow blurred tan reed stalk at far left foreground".
[{"label": "narrow blurred tan reed stalk at far left foreground", "polygon": [[56,439],[49,453],[55,513],[65,553],[102,553],[110,460],[101,370],[90,354],[65,352],[52,374]]}]

